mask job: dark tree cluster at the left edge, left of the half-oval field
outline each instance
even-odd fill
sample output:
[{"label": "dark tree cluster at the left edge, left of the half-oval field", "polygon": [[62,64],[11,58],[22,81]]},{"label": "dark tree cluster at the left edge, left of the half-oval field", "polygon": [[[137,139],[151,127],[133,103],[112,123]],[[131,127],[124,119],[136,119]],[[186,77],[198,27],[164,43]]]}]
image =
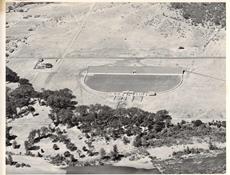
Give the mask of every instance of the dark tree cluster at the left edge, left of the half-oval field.
[{"label": "dark tree cluster at the left edge, left of the half-oval field", "polygon": [[[65,117],[72,115],[72,110],[75,109],[76,101],[73,99],[75,96],[72,91],[65,88],[57,91],[42,90],[37,92],[34,90],[29,80],[25,78],[19,78],[17,73],[13,72],[8,67],[6,68],[6,80],[10,82],[18,82],[19,86],[14,90],[7,89],[6,91],[6,117],[18,118],[20,115],[17,113],[17,109],[28,107],[26,111],[34,112],[34,108],[30,106],[33,104],[34,98],[37,98],[39,102],[44,100],[48,106],[52,108],[54,114],[57,114],[65,120]],[[53,116],[55,117],[55,116]]]}]

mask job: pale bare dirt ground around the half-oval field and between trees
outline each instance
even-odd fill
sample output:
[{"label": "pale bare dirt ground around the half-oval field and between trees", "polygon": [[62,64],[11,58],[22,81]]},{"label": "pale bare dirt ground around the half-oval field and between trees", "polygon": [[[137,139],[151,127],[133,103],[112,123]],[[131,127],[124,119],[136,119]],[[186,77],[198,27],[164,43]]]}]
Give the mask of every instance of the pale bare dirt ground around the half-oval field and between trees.
[{"label": "pale bare dirt ground around the half-oval field and between trees", "polygon": [[[175,122],[181,119],[225,120],[225,59],[220,58],[225,57],[224,29],[194,26],[164,3],[53,3],[23,8],[28,11],[6,14],[9,26],[6,28],[7,66],[20,77],[29,79],[36,90],[69,88],[79,104],[100,103],[116,107],[117,101],[113,101],[113,97],[84,88],[82,70],[97,65],[181,66],[187,72],[179,88],[145,97],[142,102],[128,100],[124,105],[153,112],[166,109]],[[54,69],[33,69],[41,57],[59,60],[51,61]],[[45,125],[49,124],[48,109],[37,107],[36,110],[44,117],[43,121],[28,116],[11,123],[19,143],[33,128],[33,125],[28,127],[25,120],[36,123],[38,128],[44,126],[44,121],[47,121]],[[21,130],[23,126],[27,129]],[[77,131],[68,132],[74,140]],[[51,145],[46,141],[40,144],[47,148],[48,154]],[[50,166],[45,161],[32,159],[23,158],[22,161],[34,164],[35,168]],[[146,161],[149,160],[143,160]],[[41,164],[37,166],[36,163]],[[8,170],[15,173],[18,169],[8,167]],[[57,172],[56,169],[53,171]]]}]

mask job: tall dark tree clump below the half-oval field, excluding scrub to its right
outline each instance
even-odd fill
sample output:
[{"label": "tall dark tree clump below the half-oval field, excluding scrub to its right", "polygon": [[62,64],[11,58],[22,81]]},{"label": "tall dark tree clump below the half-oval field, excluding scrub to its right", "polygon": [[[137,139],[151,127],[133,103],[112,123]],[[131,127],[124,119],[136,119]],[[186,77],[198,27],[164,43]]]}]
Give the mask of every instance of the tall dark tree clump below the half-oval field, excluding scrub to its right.
[{"label": "tall dark tree clump below the half-oval field, excluding scrub to its right", "polygon": [[[171,125],[171,116],[168,111],[161,110],[150,113],[138,108],[117,108],[100,104],[90,106],[77,106],[75,110],[59,110],[50,114],[56,125],[63,124],[68,127],[77,126],[83,132],[90,132],[92,136],[121,138],[137,135],[145,130],[160,132]],[[125,142],[128,142],[126,139]]]}]

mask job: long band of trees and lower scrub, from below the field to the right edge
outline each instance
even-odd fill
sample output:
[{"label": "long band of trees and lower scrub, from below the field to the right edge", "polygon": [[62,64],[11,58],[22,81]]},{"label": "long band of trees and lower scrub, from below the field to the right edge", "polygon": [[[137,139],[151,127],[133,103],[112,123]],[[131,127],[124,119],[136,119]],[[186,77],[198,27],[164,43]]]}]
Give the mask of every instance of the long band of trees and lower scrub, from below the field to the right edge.
[{"label": "long band of trees and lower scrub, from below the field to the right edge", "polygon": [[[92,137],[103,136],[108,141],[110,138],[123,138],[126,144],[129,140],[124,136],[134,135],[133,144],[136,147],[165,144],[173,142],[172,138],[203,137],[210,132],[222,139],[225,137],[224,131],[217,131],[201,120],[172,124],[172,118],[166,110],[151,113],[139,108],[113,109],[96,104],[77,106],[66,113],[62,110],[59,112],[61,114],[57,112],[50,115],[56,125],[77,126],[83,132],[91,133]],[[153,141],[155,139],[158,141]]]}]

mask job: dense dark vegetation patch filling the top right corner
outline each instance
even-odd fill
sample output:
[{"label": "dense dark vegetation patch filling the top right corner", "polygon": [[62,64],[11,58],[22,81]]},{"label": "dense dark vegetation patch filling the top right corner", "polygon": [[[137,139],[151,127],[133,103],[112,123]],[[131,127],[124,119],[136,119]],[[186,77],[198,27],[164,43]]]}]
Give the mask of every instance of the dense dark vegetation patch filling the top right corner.
[{"label": "dense dark vegetation patch filling the top right corner", "polygon": [[204,25],[206,22],[226,27],[226,4],[216,3],[171,3],[172,8],[180,9],[185,19]]}]

